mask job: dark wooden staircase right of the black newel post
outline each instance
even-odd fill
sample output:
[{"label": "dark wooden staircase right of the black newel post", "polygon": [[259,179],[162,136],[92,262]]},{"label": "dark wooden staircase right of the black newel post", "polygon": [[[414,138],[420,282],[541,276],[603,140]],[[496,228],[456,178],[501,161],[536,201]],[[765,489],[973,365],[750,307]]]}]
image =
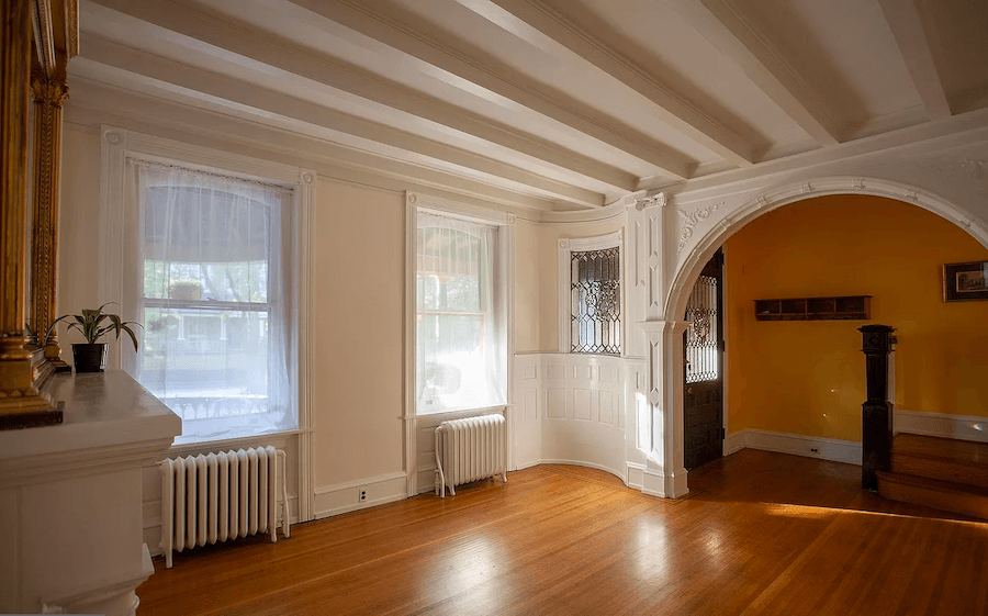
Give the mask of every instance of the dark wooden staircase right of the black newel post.
[{"label": "dark wooden staircase right of the black newel post", "polygon": [[878,494],[891,501],[988,519],[988,444],[896,435],[891,470],[877,471]]}]

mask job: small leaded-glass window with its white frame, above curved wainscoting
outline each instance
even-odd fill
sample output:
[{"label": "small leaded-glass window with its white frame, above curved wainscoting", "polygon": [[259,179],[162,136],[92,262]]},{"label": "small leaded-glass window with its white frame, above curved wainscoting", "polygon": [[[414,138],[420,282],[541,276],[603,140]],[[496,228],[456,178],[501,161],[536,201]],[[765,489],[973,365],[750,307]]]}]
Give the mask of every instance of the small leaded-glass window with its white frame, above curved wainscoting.
[{"label": "small leaded-glass window with its white frame, above curved wainscoting", "polygon": [[560,350],[621,355],[621,234],[560,242]]}]

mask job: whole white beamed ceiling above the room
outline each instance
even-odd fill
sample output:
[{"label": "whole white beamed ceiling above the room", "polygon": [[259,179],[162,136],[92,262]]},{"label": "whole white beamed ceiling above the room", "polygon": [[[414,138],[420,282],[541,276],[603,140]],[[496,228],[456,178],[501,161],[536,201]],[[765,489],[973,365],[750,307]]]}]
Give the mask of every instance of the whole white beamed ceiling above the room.
[{"label": "whole white beamed ceiling above the room", "polygon": [[988,108],[985,0],[83,0],[80,12],[74,99],[128,90],[547,210],[839,156]]}]

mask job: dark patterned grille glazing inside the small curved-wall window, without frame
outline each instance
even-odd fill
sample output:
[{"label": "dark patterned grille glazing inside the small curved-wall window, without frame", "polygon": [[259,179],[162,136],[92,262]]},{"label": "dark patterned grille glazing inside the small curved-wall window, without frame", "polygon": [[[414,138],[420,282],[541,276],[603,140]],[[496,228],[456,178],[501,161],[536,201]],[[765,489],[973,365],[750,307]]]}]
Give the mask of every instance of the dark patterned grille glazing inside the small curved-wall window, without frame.
[{"label": "dark patterned grille glazing inside the small curved-wall window, without frame", "polygon": [[571,352],[621,355],[620,248],[570,253]]}]

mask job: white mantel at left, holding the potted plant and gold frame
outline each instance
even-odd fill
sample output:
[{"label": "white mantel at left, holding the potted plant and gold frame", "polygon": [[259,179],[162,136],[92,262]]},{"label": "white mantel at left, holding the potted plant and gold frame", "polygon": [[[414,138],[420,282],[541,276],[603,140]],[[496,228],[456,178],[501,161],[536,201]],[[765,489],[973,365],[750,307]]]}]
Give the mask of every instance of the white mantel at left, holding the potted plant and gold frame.
[{"label": "white mantel at left, holding the potted plant and gold frame", "polygon": [[181,419],[122,371],[56,374],[64,423],[0,432],[0,613],[134,614],[142,466]]}]

